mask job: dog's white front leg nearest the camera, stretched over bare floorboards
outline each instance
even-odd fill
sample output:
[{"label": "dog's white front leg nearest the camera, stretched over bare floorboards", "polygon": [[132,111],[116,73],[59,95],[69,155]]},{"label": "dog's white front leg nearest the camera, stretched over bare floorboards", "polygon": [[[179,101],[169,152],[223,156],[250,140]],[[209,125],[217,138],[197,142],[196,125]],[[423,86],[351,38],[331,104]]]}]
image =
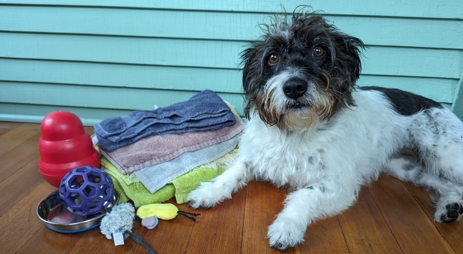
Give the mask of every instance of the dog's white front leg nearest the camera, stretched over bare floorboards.
[{"label": "dog's white front leg nearest the camera, stretched over bare floorboards", "polygon": [[354,203],[357,192],[358,189],[348,190],[338,183],[314,184],[295,190],[287,196],[283,210],[269,227],[270,246],[286,249],[302,243],[312,221],[344,211]]}]

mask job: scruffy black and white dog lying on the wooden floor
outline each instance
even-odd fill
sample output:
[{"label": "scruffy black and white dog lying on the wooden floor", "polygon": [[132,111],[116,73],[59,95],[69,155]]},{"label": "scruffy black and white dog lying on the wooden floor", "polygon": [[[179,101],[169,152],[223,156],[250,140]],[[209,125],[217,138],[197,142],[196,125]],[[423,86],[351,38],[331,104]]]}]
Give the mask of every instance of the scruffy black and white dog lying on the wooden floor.
[{"label": "scruffy black and white dog lying on the wooden floor", "polygon": [[453,113],[410,92],[357,87],[362,41],[316,13],[265,30],[242,52],[249,122],[236,161],[188,196],[191,207],[213,207],[250,180],[289,186],[267,234],[285,249],[386,173],[428,189],[440,223],[461,216],[463,123]]}]

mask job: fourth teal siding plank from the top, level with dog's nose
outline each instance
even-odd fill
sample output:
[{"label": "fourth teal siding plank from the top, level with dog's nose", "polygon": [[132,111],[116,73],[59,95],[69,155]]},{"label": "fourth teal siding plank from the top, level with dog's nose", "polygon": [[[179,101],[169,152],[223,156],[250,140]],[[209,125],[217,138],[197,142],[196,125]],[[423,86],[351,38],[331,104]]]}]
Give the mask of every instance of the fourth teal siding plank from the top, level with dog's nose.
[{"label": "fourth teal siding plank from the top, level with dog's nose", "polygon": [[[18,82],[60,83],[84,86],[114,86],[163,90],[213,89],[220,93],[242,93],[242,73],[237,70],[172,66],[139,66],[95,62],[63,62],[31,59],[0,58],[0,83],[18,86]],[[25,75],[27,73],[27,75]],[[86,75],[80,75],[85,73]],[[182,75],[178,75],[182,73]],[[406,89],[438,102],[452,103],[459,79],[401,76],[360,76],[360,86],[385,86]],[[214,84],[211,88],[211,84]],[[42,84],[36,84],[42,85]],[[69,89],[72,89],[70,86]],[[170,91],[176,92],[176,91]],[[141,94],[142,92],[140,92]],[[64,94],[69,94],[66,92]],[[14,96],[14,94],[12,94]],[[101,96],[101,95],[100,95]],[[30,96],[27,96],[30,98]],[[32,99],[32,98],[31,98]],[[35,100],[34,100],[35,101]],[[33,101],[31,101],[33,102]],[[130,108],[137,108],[135,102]],[[242,103],[240,103],[241,105]],[[238,105],[237,105],[238,106]]]}]

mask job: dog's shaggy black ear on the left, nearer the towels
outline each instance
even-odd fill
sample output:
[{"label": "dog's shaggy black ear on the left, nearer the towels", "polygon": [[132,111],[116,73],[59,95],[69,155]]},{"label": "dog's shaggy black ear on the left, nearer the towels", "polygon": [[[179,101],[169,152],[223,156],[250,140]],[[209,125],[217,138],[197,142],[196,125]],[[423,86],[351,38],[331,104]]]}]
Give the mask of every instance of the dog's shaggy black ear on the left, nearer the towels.
[{"label": "dog's shaggy black ear on the left, nearer the towels", "polygon": [[259,50],[256,44],[241,52],[241,66],[243,66],[243,89],[246,94],[246,105],[244,116],[249,119],[252,108],[255,107],[255,99],[260,89],[258,80],[262,77],[263,65],[259,57]]}]

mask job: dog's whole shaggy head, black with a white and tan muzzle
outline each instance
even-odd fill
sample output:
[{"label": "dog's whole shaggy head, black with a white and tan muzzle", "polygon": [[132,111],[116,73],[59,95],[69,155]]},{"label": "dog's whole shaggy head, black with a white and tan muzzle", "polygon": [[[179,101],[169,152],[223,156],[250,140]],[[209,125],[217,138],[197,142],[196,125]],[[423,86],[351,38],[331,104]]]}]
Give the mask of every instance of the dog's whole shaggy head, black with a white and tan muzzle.
[{"label": "dog's whole shaggy head, black with a white and tan muzzle", "polygon": [[321,16],[276,18],[261,40],[242,52],[245,116],[257,113],[282,131],[304,130],[354,105],[361,40]]}]

